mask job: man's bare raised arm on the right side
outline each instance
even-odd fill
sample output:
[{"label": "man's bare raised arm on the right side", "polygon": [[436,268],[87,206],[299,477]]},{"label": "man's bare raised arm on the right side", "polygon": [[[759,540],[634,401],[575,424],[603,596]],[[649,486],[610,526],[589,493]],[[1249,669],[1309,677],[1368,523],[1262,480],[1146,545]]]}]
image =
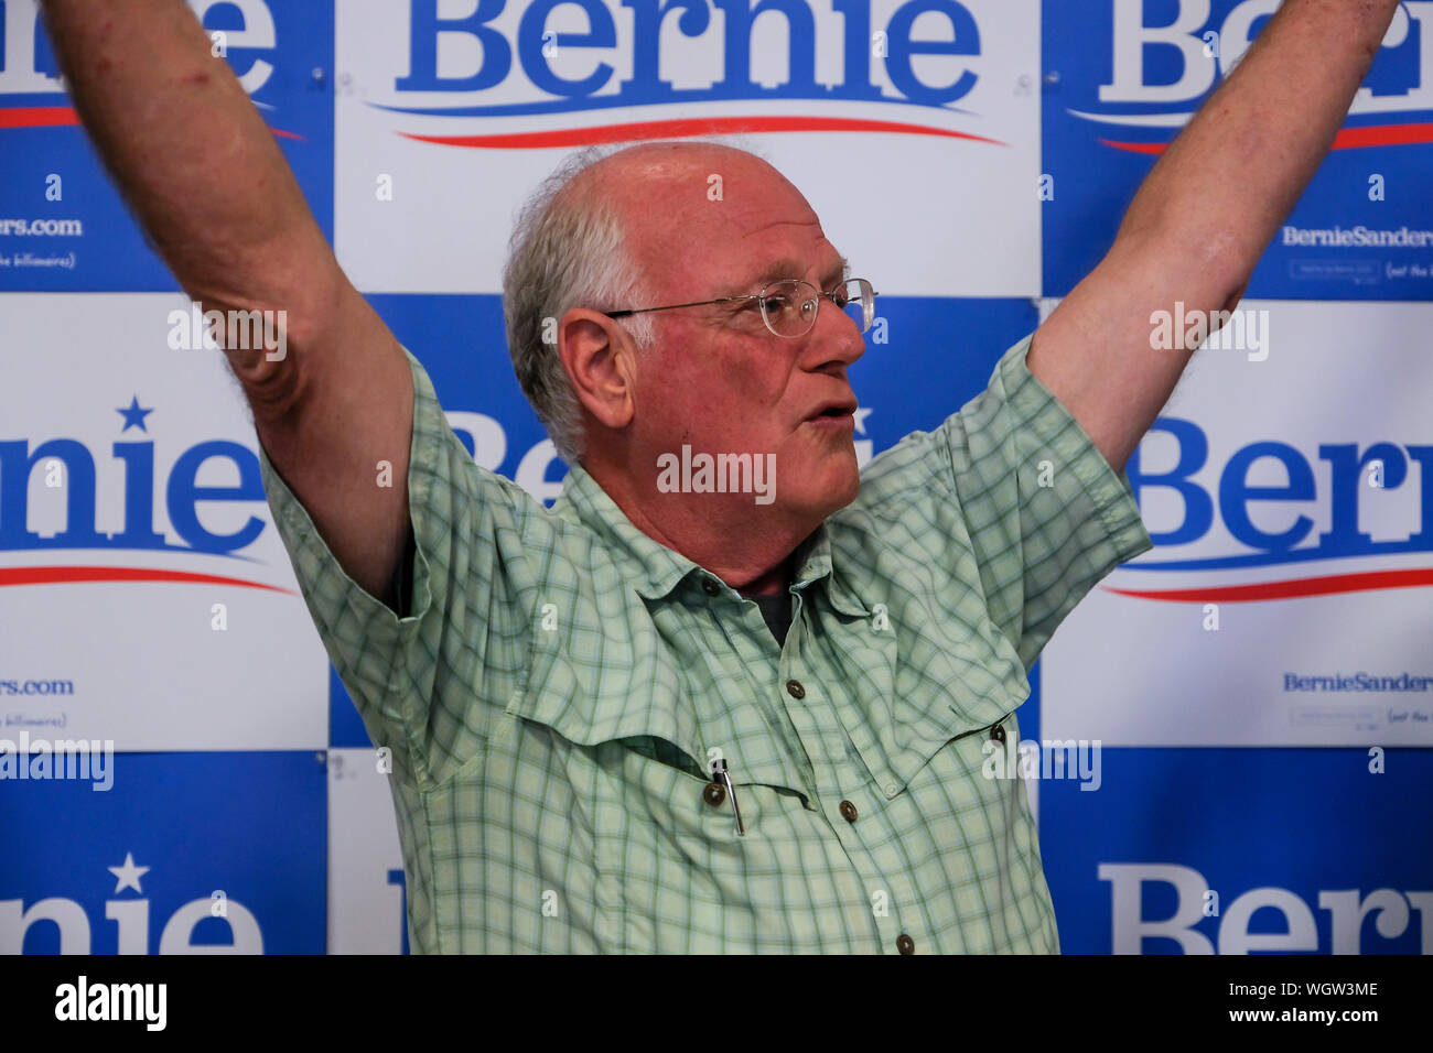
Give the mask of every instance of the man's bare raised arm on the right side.
[{"label": "man's bare raised arm on the right side", "polygon": [[[1135,195],[1115,244],[1026,364],[1123,468],[1197,348],[1151,350],[1154,311],[1230,311],[1313,178],[1397,0],[1285,0]],[[1182,341],[1184,334],[1175,334]]]}]

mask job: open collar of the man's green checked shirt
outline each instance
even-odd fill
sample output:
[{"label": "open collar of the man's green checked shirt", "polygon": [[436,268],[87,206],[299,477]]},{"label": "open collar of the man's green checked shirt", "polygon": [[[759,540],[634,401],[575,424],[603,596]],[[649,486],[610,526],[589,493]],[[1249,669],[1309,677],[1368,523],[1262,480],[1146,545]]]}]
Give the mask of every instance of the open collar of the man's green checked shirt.
[{"label": "open collar of the man's green checked shirt", "polygon": [[[615,553],[632,576],[639,596],[649,600],[669,595],[689,573],[701,567],[674,549],[652,540],[633,526],[608,491],[582,464],[572,464],[562,494],[553,503],[553,513],[576,517],[592,530],[608,550]],[[831,606],[843,615],[868,617],[867,605],[847,580],[848,574],[834,570],[831,534],[827,520],[797,549],[797,573],[792,589],[801,592],[818,580],[825,580]]]}]

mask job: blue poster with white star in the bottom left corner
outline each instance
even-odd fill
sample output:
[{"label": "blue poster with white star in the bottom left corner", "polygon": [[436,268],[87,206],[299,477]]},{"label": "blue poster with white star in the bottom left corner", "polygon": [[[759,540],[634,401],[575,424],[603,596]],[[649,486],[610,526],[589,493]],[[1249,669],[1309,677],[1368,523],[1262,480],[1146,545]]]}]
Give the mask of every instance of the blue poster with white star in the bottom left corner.
[{"label": "blue poster with white star in the bottom left corner", "polygon": [[325,754],[33,758],[0,755],[0,953],[324,953]]}]

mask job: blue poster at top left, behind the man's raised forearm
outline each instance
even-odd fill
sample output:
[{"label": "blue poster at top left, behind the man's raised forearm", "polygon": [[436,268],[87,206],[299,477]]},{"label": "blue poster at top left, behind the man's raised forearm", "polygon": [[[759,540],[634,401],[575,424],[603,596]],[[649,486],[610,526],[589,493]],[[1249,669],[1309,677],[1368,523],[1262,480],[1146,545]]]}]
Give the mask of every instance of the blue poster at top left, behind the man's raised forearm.
[{"label": "blue poster at top left, behind the man's raised forearm", "polygon": [[[191,6],[202,11],[211,52],[222,52],[241,77],[331,239],[332,3]],[[173,289],[77,123],[37,4],[0,0],[0,291]]]}]

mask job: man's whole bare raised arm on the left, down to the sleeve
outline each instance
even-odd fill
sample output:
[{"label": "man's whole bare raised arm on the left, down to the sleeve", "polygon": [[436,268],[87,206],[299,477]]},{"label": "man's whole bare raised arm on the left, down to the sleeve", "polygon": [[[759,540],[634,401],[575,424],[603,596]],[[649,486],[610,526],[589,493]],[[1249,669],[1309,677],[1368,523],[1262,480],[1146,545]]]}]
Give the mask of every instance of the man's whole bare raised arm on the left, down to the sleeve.
[{"label": "man's whole bare raised arm on the left, down to the sleeve", "polygon": [[225,354],[274,467],[348,576],[390,599],[408,524],[403,350],[182,0],[44,0],[44,14],[85,128],[183,289],[206,311],[285,312],[282,355]]}]

